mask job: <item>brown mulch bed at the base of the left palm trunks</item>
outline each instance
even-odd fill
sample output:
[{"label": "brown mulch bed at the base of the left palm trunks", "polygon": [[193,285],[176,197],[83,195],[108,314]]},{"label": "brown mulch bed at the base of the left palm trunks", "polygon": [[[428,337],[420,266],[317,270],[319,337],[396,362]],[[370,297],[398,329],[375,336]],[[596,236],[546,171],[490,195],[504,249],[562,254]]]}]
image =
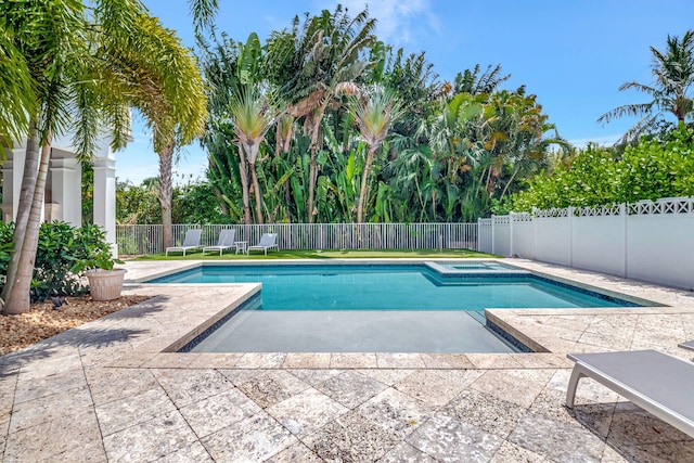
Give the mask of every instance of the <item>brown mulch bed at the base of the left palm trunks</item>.
[{"label": "brown mulch bed at the base of the left palm trunks", "polygon": [[31,304],[31,309],[26,313],[0,316],[0,356],[150,298],[151,296],[120,296],[99,301],[91,296],[68,297],[68,304],[57,309],[49,300]]}]

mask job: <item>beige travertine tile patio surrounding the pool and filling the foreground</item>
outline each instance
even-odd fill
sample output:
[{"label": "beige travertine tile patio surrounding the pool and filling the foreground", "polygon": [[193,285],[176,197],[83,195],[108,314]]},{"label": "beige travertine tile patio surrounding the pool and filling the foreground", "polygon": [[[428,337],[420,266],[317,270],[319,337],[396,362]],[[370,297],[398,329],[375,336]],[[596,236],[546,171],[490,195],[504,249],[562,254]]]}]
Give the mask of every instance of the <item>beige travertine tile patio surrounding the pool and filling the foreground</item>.
[{"label": "beige travertine tile patio surrounding the pool and filling the foreground", "polygon": [[155,297],[0,357],[3,461],[694,461],[692,438],[590,380],[563,406],[569,351],[691,358],[694,295],[513,263],[669,307],[490,314],[543,353],[176,353],[258,286],[131,284]]}]

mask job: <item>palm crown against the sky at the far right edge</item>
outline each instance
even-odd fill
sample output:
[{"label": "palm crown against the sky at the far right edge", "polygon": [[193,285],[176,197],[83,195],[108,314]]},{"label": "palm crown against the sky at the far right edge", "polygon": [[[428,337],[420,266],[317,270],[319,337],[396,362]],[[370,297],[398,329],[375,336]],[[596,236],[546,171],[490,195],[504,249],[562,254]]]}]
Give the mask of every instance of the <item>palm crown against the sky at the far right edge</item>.
[{"label": "palm crown against the sky at the far right edge", "polygon": [[678,123],[684,123],[694,110],[691,87],[694,83],[694,30],[687,30],[682,39],[668,36],[667,47],[660,51],[651,47],[654,83],[625,82],[619,91],[634,89],[651,97],[647,103],[625,104],[597,119],[609,123],[624,116],[640,116],[617,143],[631,142],[641,134],[657,129],[664,114],[672,114]]}]

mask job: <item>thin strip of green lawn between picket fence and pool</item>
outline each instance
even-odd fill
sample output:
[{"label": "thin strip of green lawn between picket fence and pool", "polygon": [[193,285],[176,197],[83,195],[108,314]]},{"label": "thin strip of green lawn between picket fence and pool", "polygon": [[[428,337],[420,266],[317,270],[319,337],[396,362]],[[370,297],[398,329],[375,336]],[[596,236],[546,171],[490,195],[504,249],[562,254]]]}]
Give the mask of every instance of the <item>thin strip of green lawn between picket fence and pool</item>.
[{"label": "thin strip of green lawn between picket fence and pool", "polygon": [[491,254],[478,253],[470,249],[368,249],[368,250],[297,250],[297,249],[282,249],[282,250],[269,250],[265,256],[262,253],[234,254],[233,249],[226,252],[222,256],[217,253],[206,253],[203,256],[202,250],[188,252],[185,257],[181,253],[169,253],[166,257],[164,254],[153,254],[150,256],[142,256],[133,258],[132,260],[274,260],[274,259],[393,259],[393,258],[425,258],[425,259],[442,259],[442,258],[489,258],[499,257]]}]

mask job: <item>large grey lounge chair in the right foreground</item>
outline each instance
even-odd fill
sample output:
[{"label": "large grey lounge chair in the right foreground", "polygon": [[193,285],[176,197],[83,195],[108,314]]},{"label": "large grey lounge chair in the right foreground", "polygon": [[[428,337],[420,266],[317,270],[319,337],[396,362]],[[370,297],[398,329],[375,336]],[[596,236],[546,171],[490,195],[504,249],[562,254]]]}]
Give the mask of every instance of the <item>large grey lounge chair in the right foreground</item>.
[{"label": "large grey lounge chair in the right foreground", "polygon": [[581,377],[591,377],[694,437],[694,363],[657,350],[569,353],[574,372],[566,407],[574,408]]}]

